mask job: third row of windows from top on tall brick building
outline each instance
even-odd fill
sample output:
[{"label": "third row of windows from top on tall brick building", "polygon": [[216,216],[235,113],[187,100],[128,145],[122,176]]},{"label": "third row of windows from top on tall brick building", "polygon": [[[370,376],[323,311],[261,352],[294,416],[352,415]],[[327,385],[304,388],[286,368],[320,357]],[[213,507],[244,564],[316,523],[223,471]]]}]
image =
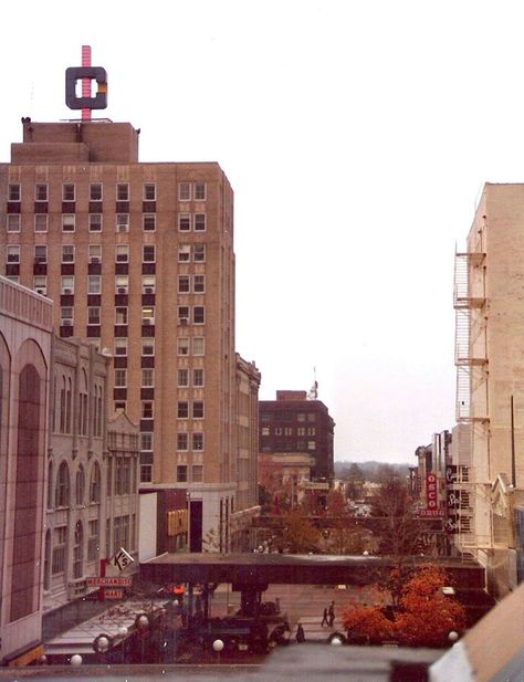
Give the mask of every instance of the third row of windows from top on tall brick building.
[{"label": "third row of windows from top on tall brick building", "polygon": [[[90,244],[87,251],[87,258],[90,263],[102,263],[102,244]],[[190,261],[195,263],[206,262],[206,244],[179,244],[178,245],[178,262],[188,263]],[[7,263],[20,263],[20,244],[9,244],[6,252]],[[34,262],[39,264],[45,264],[48,262],[48,245],[35,244],[34,246]],[[73,244],[62,244],[61,246],[61,262],[74,263],[75,262],[75,246]],[[129,244],[116,244],[115,245],[115,263],[128,263],[129,262]],[[155,244],[143,244],[142,246],[142,262],[155,263],[156,262],[156,248]]]}]

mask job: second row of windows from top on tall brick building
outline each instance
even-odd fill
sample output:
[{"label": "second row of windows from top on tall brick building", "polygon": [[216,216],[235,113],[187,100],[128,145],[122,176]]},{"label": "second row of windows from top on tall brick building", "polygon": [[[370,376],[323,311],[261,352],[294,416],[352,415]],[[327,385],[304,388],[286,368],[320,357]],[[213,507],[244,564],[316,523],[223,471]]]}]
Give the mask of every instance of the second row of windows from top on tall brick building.
[{"label": "second row of windows from top on tall brick building", "polygon": [[[22,218],[20,213],[8,213],[7,217],[7,231],[20,232],[22,224]],[[88,213],[87,225],[90,232],[102,232],[104,227],[104,217],[102,213]],[[130,225],[129,213],[116,213],[115,216],[115,231],[128,232]],[[76,216],[75,213],[62,213],[61,214],[62,232],[74,232],[76,229]],[[142,216],[142,229],[144,232],[155,232],[157,229],[156,213],[144,213]],[[206,232],[207,229],[207,216],[206,213],[179,213],[178,214],[178,231],[179,232]],[[36,213],[34,216],[34,231],[48,232],[49,230],[49,216],[48,213]]]}]

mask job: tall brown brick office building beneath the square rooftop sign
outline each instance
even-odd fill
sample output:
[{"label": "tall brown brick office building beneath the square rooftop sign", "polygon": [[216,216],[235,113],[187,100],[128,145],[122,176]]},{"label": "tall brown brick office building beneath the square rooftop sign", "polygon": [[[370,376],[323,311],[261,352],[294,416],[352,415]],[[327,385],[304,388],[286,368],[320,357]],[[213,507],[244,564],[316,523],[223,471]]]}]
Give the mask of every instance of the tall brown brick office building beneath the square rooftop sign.
[{"label": "tall brown brick office building beneath the square rooftop sign", "polygon": [[[222,550],[248,548],[260,374],[234,349],[226,175],[139,162],[127,123],[22,123],[0,165],[1,272],[53,300],[56,334],[113,356],[109,411],[140,423],[158,549],[180,548],[182,532],[200,550],[211,531]],[[171,533],[169,513],[184,508],[189,527]]]}]

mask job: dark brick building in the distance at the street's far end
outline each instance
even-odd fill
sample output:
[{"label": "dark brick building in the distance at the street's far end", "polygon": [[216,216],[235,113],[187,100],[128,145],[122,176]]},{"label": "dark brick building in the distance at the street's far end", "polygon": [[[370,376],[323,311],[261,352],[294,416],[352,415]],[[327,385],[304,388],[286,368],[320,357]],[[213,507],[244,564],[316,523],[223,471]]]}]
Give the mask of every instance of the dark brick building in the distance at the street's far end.
[{"label": "dark brick building in the distance at the street's far end", "polygon": [[310,400],[306,391],[279,390],[276,400],[259,401],[259,417],[261,453],[307,453],[315,460],[311,480],[333,480],[335,422],[321,400]]}]

